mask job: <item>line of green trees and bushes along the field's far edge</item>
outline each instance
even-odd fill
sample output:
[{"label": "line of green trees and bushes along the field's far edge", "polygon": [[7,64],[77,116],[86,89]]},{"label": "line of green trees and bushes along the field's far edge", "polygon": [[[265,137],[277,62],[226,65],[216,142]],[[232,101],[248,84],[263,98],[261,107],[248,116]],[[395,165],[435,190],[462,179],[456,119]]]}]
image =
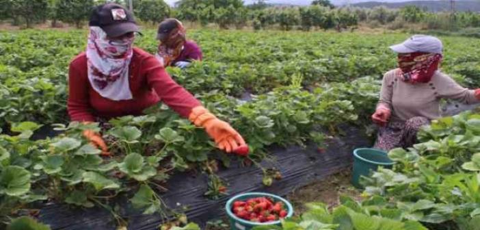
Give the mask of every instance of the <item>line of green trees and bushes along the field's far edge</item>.
[{"label": "line of green trees and bushes along the field's far edge", "polygon": [[[88,20],[94,5],[105,0],[0,0],[0,20],[14,25],[31,27],[35,23],[58,21],[81,27]],[[113,0],[126,5],[126,0]],[[183,21],[209,25],[222,29],[251,26],[254,29],[354,29],[360,23],[372,27],[388,25],[399,29],[420,23],[427,29],[454,30],[480,27],[480,14],[475,12],[428,12],[408,5],[399,10],[385,7],[335,8],[328,0],[315,0],[304,7],[272,6],[259,0],[245,5],[242,0],[181,0],[171,8],[163,0],[133,0],[134,14],[145,23],[157,24],[164,18],[176,17]]]}]

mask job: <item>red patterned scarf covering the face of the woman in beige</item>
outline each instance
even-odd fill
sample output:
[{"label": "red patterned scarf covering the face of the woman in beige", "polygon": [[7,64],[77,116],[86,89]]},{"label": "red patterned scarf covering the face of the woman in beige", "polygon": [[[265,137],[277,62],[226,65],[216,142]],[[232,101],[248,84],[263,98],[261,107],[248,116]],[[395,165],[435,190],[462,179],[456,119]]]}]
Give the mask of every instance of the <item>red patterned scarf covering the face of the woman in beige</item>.
[{"label": "red patterned scarf covering the face of the woman in beige", "polygon": [[438,70],[442,55],[438,53],[402,53],[398,55],[401,80],[410,84],[427,83]]}]

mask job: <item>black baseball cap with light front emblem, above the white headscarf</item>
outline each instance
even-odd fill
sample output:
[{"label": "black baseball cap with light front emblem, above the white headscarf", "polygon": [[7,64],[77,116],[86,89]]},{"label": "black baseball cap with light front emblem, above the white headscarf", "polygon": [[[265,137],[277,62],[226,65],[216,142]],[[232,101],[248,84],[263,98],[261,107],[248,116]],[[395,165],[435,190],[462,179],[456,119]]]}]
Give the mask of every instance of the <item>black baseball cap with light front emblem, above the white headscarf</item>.
[{"label": "black baseball cap with light front emblem, above the white headscarf", "polygon": [[88,25],[101,27],[110,37],[138,32],[133,14],[116,3],[106,3],[94,8]]}]

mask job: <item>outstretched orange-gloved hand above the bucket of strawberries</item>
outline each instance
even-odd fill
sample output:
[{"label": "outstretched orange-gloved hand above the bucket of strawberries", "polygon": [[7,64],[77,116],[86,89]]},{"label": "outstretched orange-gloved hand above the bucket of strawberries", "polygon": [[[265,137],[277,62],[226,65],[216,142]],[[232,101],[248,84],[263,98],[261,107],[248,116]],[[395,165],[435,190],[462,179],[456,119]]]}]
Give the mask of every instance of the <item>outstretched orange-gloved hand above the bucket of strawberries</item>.
[{"label": "outstretched orange-gloved hand above the bucket of strawberries", "polygon": [[[215,140],[219,149],[227,153],[234,152],[238,155],[248,155],[248,146],[240,134],[228,123],[219,120],[203,106],[194,107],[189,115],[189,120],[198,127],[204,127],[206,133]],[[245,151],[246,148],[246,151]]]}]

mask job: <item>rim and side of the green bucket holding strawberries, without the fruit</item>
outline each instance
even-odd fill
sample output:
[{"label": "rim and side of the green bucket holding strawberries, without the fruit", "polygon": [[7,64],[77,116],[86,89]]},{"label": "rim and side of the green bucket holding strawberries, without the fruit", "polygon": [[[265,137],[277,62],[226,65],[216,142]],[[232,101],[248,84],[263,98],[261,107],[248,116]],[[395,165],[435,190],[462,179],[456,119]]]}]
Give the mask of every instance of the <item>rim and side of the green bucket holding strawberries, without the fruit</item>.
[{"label": "rim and side of the green bucket holding strawberries, without the fruit", "polygon": [[265,192],[248,192],[248,193],[238,194],[237,196],[233,196],[232,198],[230,198],[225,205],[225,209],[226,209],[228,218],[230,219],[230,229],[231,230],[250,230],[253,227],[262,226],[262,225],[278,225],[278,226],[280,226],[280,220],[272,221],[272,222],[263,222],[263,223],[252,222],[252,221],[243,220],[241,218],[238,218],[237,216],[235,216],[235,214],[233,214],[232,205],[235,201],[246,201],[250,198],[260,197],[260,196],[271,197],[271,199],[273,199],[275,202],[282,201],[286,205],[286,209],[287,209],[287,212],[288,212],[288,214],[286,214],[286,217],[288,218],[288,217],[293,216],[293,206],[291,205],[291,203],[289,201],[286,201],[286,199],[283,199],[280,196],[276,196],[274,194],[269,194],[269,193],[265,193]]}]

